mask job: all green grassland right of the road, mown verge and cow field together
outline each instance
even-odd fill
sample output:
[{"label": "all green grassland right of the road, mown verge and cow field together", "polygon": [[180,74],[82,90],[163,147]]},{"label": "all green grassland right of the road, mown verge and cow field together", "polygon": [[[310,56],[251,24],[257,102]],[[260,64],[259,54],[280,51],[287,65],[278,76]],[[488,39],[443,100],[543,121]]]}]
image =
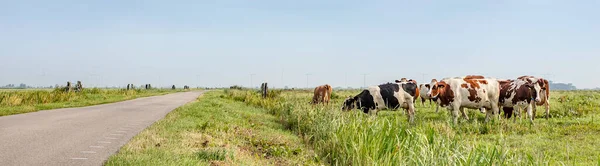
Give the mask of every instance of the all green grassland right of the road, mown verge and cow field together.
[{"label": "all green grassland right of the road, mown verge and cow field together", "polygon": [[[448,111],[436,113],[433,106],[420,102],[414,125],[408,124],[403,110],[381,111],[377,116],[340,111],[345,97],[358,92],[334,91],[329,106],[312,106],[311,91],[275,90],[267,99],[256,91],[212,91],[136,136],[108,163],[600,164],[597,91],[552,91],[551,118],[543,118],[538,107],[534,125],[524,118],[516,123],[505,119],[483,123],[485,115],[478,110],[469,110],[471,120],[454,125]],[[166,127],[170,124],[185,127]],[[256,134],[236,134],[237,126]],[[261,141],[256,143],[256,138]],[[213,143],[198,145],[207,140]],[[264,145],[270,150],[265,151]],[[253,148],[262,150],[248,150]],[[283,155],[273,156],[273,151]]]}]

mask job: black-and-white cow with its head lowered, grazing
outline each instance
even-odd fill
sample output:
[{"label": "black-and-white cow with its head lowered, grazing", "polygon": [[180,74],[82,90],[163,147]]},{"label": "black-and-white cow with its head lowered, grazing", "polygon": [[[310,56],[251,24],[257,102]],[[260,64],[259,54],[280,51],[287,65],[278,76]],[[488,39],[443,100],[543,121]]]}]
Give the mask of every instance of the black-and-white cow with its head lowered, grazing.
[{"label": "black-and-white cow with its head lowered, grazing", "polygon": [[408,121],[414,122],[414,97],[417,95],[417,85],[412,82],[387,83],[370,86],[360,94],[348,97],[342,110],[361,109],[364,113],[377,114],[380,109],[404,108],[408,113]]}]

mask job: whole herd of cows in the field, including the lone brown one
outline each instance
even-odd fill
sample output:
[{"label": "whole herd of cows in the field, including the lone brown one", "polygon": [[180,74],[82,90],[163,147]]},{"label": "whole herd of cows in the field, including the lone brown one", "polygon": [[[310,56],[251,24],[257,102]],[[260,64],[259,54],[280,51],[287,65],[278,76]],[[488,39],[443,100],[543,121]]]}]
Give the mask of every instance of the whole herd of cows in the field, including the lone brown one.
[{"label": "whole herd of cows in the field, including the lone brown one", "polygon": [[[316,87],[313,103],[329,103],[332,89],[329,85]],[[544,105],[546,118],[549,116],[550,87],[546,79],[532,76],[522,76],[517,79],[496,79],[478,75],[444,78],[440,81],[433,79],[429,84],[418,85],[414,80],[403,78],[395,83],[370,86],[356,96],[344,100],[342,110],[360,109],[364,113],[377,114],[381,109],[406,110],[408,121],[414,122],[415,103],[420,98],[421,103],[433,102],[436,112],[439,107],[447,108],[456,123],[459,111],[462,117],[469,119],[465,108],[478,109],[486,114],[485,121],[492,116],[500,115],[500,108],[506,118],[512,114],[520,116],[521,110],[527,111],[529,121],[533,123],[535,107]],[[516,111],[515,111],[516,110]]]}]

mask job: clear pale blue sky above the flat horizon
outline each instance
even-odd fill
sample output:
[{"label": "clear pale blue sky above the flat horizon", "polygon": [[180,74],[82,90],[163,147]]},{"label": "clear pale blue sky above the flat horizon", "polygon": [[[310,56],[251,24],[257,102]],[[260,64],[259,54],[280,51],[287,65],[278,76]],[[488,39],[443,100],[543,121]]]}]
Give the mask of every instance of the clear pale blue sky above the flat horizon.
[{"label": "clear pale blue sky above the flat horizon", "polygon": [[[3,1],[0,85],[276,87],[544,76],[600,87],[600,1]],[[424,75],[425,74],[425,75]],[[591,76],[591,77],[590,77]]]}]

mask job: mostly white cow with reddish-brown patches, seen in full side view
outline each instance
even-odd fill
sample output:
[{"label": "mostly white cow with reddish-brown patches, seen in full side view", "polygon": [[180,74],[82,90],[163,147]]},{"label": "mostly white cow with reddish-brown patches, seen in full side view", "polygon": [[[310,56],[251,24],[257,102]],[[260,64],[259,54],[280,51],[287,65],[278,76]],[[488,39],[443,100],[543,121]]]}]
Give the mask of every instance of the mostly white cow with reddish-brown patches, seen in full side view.
[{"label": "mostly white cow with reddish-brown patches, seen in full side view", "polygon": [[[479,77],[477,77],[479,78]],[[483,77],[481,77],[483,78]],[[436,98],[437,103],[452,112],[453,122],[458,121],[458,111],[469,119],[464,108],[487,108],[486,122],[498,112],[499,83],[493,78],[476,79],[470,76],[446,78],[432,85],[428,96]]]}]

